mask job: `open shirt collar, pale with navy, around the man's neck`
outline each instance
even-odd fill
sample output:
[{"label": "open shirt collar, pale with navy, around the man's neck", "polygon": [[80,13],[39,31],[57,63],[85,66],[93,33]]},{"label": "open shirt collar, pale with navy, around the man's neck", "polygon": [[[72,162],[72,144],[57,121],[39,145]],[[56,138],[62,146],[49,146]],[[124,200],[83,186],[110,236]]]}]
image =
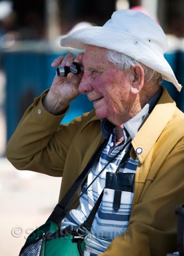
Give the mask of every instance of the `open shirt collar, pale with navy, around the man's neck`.
[{"label": "open shirt collar, pale with navy, around the man's neck", "polygon": [[[133,139],[137,132],[139,131],[139,127],[144,122],[146,116],[148,116],[149,113],[151,113],[152,109],[155,107],[155,105],[158,102],[158,99],[160,99],[160,96],[162,95],[162,89],[160,88],[155,95],[146,103],[144,108],[141,109],[137,115],[135,115],[133,118],[128,120],[123,126],[125,129],[125,132],[130,135],[130,137]],[[109,122],[107,119],[103,119],[101,122],[101,130],[102,134],[105,139],[108,139],[109,136],[113,133],[115,125]]]}]

